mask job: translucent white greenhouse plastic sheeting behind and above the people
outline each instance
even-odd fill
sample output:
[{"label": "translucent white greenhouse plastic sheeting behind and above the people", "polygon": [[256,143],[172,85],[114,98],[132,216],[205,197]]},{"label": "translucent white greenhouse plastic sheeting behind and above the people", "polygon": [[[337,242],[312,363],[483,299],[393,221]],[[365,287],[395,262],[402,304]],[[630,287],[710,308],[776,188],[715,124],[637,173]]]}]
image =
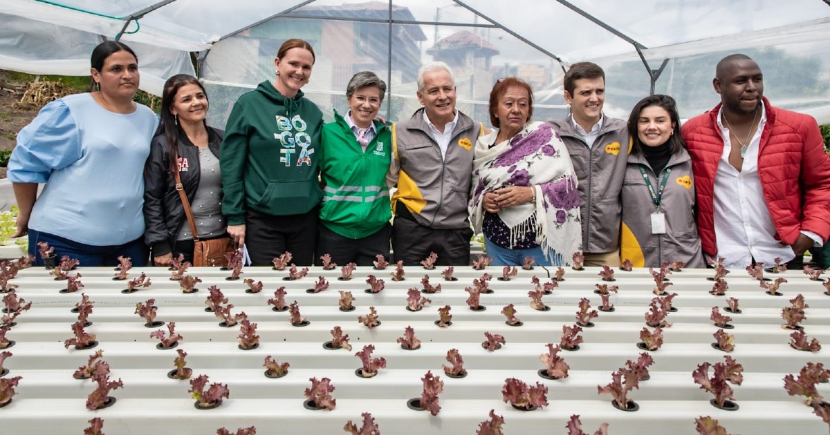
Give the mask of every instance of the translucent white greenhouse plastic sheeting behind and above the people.
[{"label": "translucent white greenhouse plastic sheeting behind and above the people", "polygon": [[195,53],[220,127],[239,94],[272,78],[276,50],[291,37],[315,47],[304,90],[327,119],[344,111],[359,70],[388,81],[382,114],[407,118],[419,105],[415,71],[430,60],[452,65],[459,108],[482,120],[491,85],[506,75],[533,86],[535,118],[564,116],[563,70],[592,60],[606,70],[606,113],[624,118],[651,90],[640,53],[651,70],[665,60],[654,92],[674,96],[691,118],[719,101],[717,60],[742,52],[764,70],[773,104],[830,123],[824,0],[5,0],[0,21],[2,69],[88,75],[91,48],[120,35],[153,94],[170,75],[194,74]]}]

